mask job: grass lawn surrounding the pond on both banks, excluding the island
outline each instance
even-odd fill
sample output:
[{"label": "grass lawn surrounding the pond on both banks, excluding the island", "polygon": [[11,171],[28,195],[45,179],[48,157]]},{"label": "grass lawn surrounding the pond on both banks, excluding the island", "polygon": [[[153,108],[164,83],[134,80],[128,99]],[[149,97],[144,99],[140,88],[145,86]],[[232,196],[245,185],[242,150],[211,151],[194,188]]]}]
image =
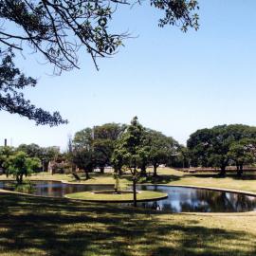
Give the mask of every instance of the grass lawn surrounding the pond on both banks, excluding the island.
[{"label": "grass lawn surrounding the pond on both banks, excluding the island", "polygon": [[[159,174],[142,181],[256,192],[254,174]],[[64,174],[32,178],[74,181]],[[115,181],[93,174],[81,182]],[[130,182],[129,174],[120,180]],[[178,214],[4,192],[0,204],[0,255],[256,255],[256,212]]]}]

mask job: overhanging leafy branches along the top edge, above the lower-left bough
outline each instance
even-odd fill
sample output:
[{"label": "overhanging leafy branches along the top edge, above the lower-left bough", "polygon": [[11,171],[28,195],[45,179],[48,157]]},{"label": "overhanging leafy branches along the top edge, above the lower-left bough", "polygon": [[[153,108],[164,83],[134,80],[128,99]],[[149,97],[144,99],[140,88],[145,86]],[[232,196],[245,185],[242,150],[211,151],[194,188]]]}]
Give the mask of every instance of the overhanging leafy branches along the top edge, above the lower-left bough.
[{"label": "overhanging leafy branches along the top edge, above the lower-left bough", "polygon": [[[0,4],[0,17],[15,24],[0,31],[2,46],[22,50],[27,43],[60,70],[78,67],[78,50],[84,47],[94,63],[98,57],[113,55],[129,37],[111,32],[109,25],[118,6],[144,4],[128,0],[5,0]],[[196,0],[151,0],[162,17],[159,27],[173,25],[186,31],[198,28]],[[4,48],[3,48],[4,49]],[[97,64],[96,64],[97,66]]]}]

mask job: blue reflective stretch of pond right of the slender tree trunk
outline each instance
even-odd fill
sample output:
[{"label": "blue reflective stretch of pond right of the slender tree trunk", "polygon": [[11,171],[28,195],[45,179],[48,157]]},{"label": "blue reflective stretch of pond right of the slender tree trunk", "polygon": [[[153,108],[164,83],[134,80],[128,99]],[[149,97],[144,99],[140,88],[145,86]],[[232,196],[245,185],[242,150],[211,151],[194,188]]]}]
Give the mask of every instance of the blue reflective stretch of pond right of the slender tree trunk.
[{"label": "blue reflective stretch of pond right of the slender tree trunk", "polygon": [[138,204],[140,207],[147,209],[171,210],[174,212],[238,212],[256,210],[256,197],[247,196],[242,193],[157,185],[142,185],[138,186],[138,189],[168,193],[167,199]]}]

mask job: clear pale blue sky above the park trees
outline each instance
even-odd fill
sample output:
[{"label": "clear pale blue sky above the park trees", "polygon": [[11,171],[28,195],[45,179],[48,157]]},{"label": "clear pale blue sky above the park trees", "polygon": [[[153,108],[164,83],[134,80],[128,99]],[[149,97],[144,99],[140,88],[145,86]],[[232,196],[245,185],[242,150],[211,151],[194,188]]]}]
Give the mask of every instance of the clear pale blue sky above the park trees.
[{"label": "clear pale blue sky above the park trees", "polygon": [[0,112],[0,143],[37,143],[65,149],[67,135],[105,122],[146,127],[181,143],[197,129],[224,123],[256,125],[256,1],[200,1],[200,29],[182,33],[157,27],[159,13],[144,3],[120,9],[113,29],[137,38],[96,71],[85,52],[80,70],[49,76],[38,55],[18,57],[19,66],[38,78],[26,96],[47,110],[59,110],[67,125],[35,126]]}]

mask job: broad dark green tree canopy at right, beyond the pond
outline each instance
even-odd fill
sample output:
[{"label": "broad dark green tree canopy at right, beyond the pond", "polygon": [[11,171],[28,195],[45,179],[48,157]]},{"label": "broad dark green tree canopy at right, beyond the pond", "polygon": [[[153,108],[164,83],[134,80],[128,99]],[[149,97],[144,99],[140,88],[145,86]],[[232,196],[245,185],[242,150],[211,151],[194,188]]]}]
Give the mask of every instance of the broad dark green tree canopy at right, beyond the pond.
[{"label": "broad dark green tree canopy at right, beyond the pond", "polygon": [[192,165],[218,167],[225,175],[227,166],[235,162],[241,174],[244,164],[255,161],[255,139],[256,127],[242,124],[198,130],[188,140]]}]

